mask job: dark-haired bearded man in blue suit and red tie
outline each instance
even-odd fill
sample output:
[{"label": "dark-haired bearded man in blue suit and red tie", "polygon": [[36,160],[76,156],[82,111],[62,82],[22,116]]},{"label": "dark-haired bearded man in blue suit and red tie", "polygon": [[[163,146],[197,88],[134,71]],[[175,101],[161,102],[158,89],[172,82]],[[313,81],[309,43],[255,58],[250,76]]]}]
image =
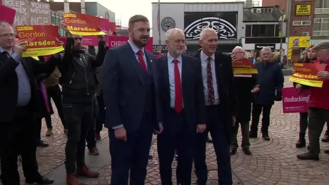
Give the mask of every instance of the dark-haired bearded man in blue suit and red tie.
[{"label": "dark-haired bearded man in blue suit and red tie", "polygon": [[155,58],[144,49],[150,39],[148,18],[132,16],[128,30],[129,41],[107,50],[102,69],[112,185],[127,184],[129,170],[130,184],[144,184],[153,130],[162,131]]}]

